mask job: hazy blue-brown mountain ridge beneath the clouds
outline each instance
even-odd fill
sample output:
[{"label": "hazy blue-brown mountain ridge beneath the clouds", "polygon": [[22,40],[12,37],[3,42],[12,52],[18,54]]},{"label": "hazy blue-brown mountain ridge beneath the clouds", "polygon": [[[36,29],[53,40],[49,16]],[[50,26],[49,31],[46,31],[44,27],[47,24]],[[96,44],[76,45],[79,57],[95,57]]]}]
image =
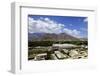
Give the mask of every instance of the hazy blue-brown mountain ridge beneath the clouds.
[{"label": "hazy blue-brown mountain ridge beneath the clouds", "polygon": [[79,38],[73,37],[66,33],[28,33],[29,41],[79,41]]}]

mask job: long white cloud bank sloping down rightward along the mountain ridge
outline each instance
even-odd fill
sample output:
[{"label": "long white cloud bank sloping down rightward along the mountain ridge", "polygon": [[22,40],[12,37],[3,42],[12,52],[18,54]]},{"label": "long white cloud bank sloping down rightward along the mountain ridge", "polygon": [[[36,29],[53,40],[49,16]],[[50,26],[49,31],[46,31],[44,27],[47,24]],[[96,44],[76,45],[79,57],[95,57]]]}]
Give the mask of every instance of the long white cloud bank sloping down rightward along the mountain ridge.
[{"label": "long white cloud bank sloping down rightward along the mountain ridge", "polygon": [[64,24],[57,23],[49,18],[34,19],[29,17],[29,33],[67,33],[69,35],[79,37],[80,31],[76,29],[64,28]]}]

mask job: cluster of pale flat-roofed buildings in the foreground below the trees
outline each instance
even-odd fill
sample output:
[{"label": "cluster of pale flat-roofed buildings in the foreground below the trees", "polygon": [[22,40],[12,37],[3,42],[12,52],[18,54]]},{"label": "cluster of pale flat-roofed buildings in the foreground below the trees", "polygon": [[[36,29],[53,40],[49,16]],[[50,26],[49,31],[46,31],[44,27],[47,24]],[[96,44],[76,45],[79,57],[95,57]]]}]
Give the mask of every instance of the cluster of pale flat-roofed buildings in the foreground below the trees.
[{"label": "cluster of pale flat-roofed buildings in the foreground below the trees", "polygon": [[38,60],[62,60],[62,59],[86,59],[88,57],[87,46],[73,44],[53,44],[46,53],[37,54]]}]

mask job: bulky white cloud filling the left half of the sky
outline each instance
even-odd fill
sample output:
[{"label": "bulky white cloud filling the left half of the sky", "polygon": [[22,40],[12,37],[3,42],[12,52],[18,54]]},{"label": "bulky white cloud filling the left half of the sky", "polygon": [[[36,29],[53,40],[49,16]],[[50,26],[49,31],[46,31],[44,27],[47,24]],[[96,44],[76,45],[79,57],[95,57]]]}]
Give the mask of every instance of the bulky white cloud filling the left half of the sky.
[{"label": "bulky white cloud filling the left half of the sky", "polygon": [[49,18],[41,18],[35,20],[29,17],[29,32],[45,32],[45,33],[61,33],[61,29],[64,25],[56,23]]}]

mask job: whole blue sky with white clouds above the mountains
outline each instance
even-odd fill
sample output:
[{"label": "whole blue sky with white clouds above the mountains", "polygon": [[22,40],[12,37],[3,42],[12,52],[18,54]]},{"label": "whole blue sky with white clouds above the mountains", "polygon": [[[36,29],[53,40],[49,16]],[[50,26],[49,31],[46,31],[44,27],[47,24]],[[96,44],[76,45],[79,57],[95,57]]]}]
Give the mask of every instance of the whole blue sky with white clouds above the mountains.
[{"label": "whole blue sky with white clouds above the mountains", "polygon": [[29,33],[66,33],[87,38],[88,18],[76,16],[28,15]]}]

